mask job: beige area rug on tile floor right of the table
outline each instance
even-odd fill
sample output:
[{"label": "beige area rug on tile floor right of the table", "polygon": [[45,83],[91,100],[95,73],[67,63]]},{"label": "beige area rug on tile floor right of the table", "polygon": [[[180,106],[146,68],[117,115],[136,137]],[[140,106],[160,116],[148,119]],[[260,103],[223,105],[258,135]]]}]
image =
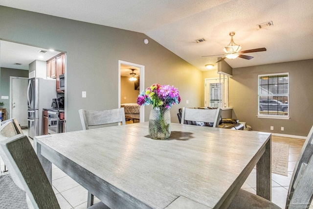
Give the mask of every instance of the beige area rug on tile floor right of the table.
[{"label": "beige area rug on tile floor right of the table", "polygon": [[289,145],[272,142],[272,173],[288,176]]}]

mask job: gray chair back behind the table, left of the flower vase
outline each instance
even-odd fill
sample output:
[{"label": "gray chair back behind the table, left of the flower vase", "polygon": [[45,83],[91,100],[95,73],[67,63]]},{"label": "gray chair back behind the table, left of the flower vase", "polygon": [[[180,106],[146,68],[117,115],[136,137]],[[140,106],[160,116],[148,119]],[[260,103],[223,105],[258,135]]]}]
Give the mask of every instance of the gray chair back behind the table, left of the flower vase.
[{"label": "gray chair back behind the table, left of the flower vase", "polygon": [[124,108],[112,110],[79,110],[80,120],[83,130],[88,130],[89,126],[105,125],[121,122],[126,124]]}]

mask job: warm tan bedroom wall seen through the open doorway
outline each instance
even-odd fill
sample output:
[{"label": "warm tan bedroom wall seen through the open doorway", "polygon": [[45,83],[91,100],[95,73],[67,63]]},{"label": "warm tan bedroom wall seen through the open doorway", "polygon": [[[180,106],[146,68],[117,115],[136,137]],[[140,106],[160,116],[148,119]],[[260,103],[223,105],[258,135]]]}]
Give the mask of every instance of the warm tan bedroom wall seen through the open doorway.
[{"label": "warm tan bedroom wall seen through the open doorway", "polygon": [[121,76],[121,104],[136,103],[138,94],[139,90],[135,90],[134,81],[130,81],[129,77]]}]

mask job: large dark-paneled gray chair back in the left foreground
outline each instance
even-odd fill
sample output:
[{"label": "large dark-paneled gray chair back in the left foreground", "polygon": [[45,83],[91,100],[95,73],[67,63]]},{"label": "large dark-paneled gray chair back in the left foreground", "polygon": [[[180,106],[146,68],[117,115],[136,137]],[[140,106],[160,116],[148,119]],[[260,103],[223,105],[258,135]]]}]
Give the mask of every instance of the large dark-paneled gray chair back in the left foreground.
[{"label": "large dark-paneled gray chair back in the left foreground", "polygon": [[1,135],[0,153],[14,183],[26,192],[28,208],[60,209],[52,186],[26,136]]}]

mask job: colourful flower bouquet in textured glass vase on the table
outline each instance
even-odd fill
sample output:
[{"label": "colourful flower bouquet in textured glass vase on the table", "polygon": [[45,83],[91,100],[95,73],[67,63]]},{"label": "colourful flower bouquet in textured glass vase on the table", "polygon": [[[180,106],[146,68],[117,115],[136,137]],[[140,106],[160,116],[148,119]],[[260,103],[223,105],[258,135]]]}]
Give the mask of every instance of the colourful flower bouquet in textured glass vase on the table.
[{"label": "colourful flower bouquet in textured glass vase on the table", "polygon": [[167,139],[171,134],[170,108],[179,104],[179,91],[174,86],[153,84],[138,95],[138,105],[152,105],[149,134],[152,139]]}]

